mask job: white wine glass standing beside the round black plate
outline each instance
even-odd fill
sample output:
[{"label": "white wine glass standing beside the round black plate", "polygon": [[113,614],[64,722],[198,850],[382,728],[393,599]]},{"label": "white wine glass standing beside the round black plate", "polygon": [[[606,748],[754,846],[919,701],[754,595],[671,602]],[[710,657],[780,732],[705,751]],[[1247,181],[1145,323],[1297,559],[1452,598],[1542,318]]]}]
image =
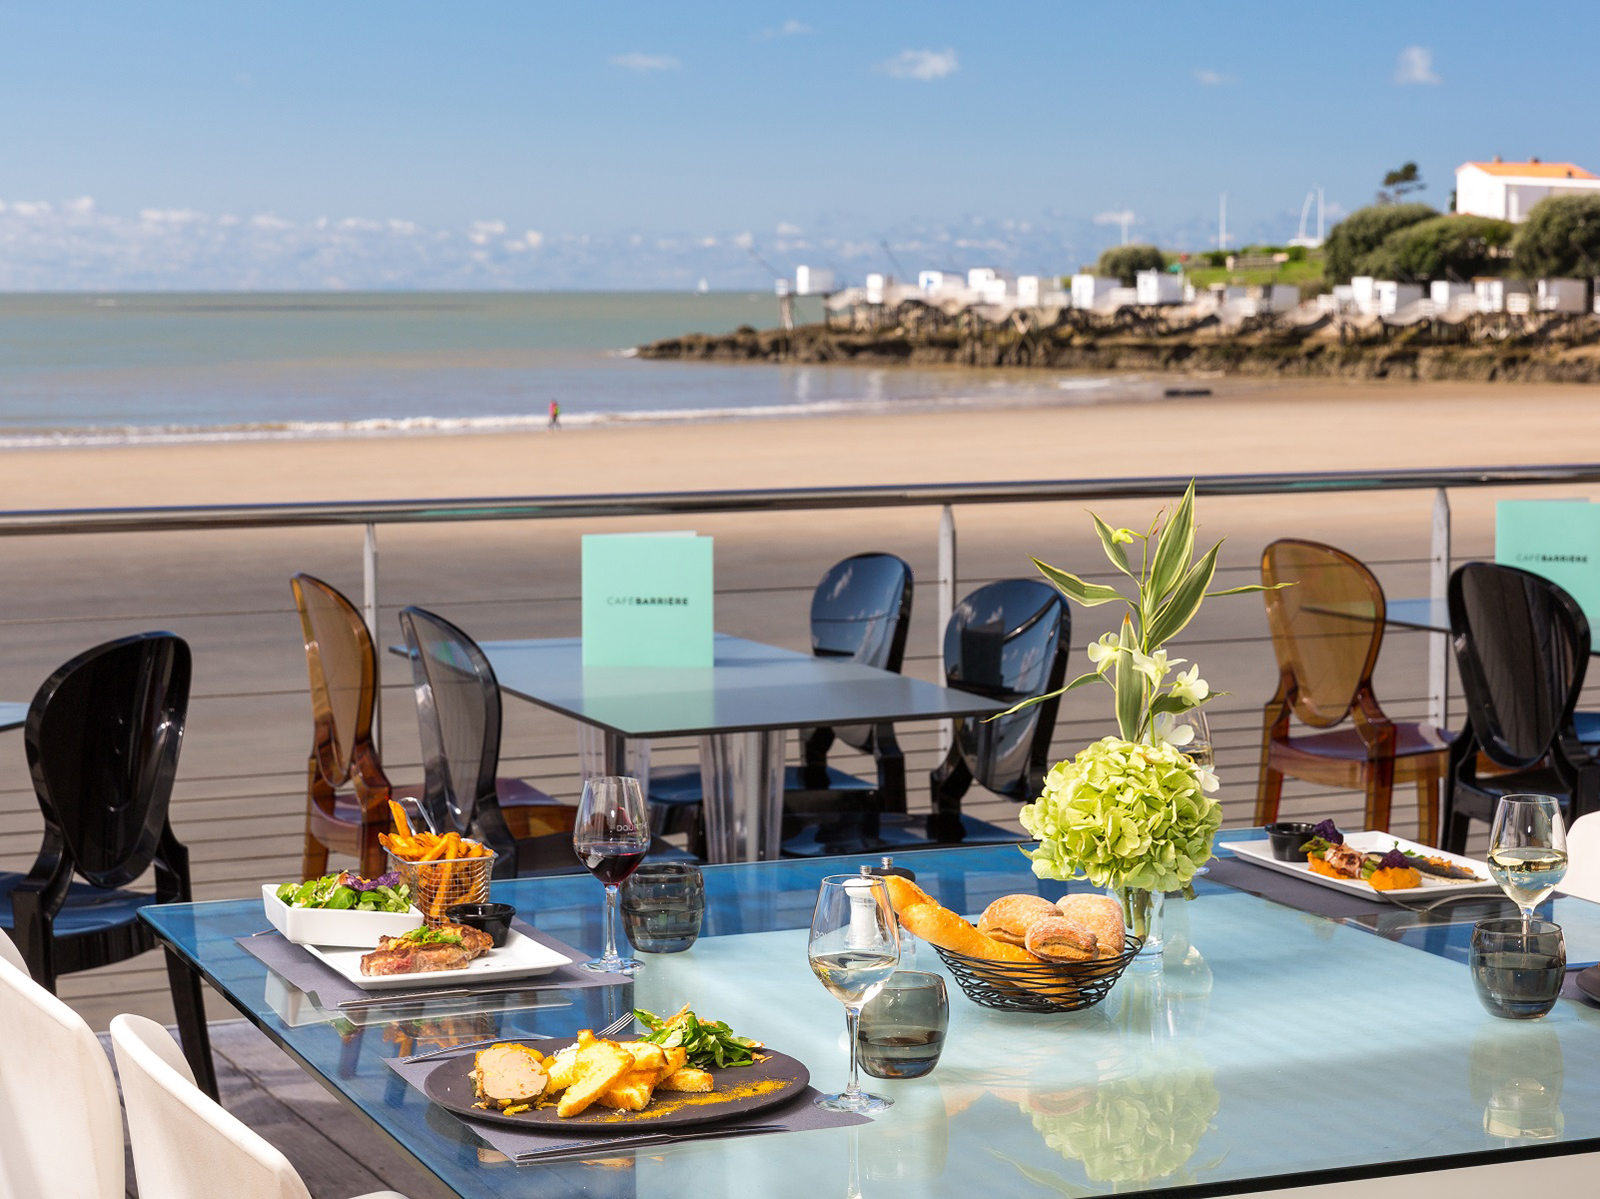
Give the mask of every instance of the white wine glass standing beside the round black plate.
[{"label": "white wine glass standing beside the round black plate", "polygon": [[858,1028],[861,1009],[894,973],[899,964],[899,928],[883,879],[866,874],[830,874],[816,893],[811,973],[845,1005],[850,1031],[850,1085],[838,1095],[822,1095],[816,1106],[829,1111],[883,1111],[893,1100],[861,1090]]}]

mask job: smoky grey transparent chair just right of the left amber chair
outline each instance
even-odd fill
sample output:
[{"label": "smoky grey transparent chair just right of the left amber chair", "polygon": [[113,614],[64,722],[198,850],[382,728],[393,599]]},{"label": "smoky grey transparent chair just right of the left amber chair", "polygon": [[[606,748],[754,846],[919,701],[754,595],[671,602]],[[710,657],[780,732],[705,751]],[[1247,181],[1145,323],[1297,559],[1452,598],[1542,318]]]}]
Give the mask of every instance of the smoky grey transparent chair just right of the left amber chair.
[{"label": "smoky grey transparent chair just right of the left amber chair", "polygon": [[[578,808],[517,778],[499,776],[501,695],[494,668],[466,632],[426,608],[403,608],[422,741],[424,821],[494,850],[494,877],[579,874],[573,853]],[[678,858],[664,842],[653,860]]]}]

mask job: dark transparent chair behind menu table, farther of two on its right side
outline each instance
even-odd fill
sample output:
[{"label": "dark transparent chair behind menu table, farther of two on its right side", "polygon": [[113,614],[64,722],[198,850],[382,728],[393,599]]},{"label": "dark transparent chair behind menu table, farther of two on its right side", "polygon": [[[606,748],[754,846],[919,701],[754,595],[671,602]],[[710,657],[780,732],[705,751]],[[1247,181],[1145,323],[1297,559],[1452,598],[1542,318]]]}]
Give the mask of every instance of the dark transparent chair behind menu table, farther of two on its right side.
[{"label": "dark transparent chair behind menu table, farther of two on its right side", "polygon": [[[811,592],[811,653],[899,672],[910,628],[912,570],[894,554],[867,552],[835,562]],[[840,741],[872,754],[877,780],[829,765]],[[894,727],[802,728],[802,764],[784,770],[784,852],[843,853],[859,847],[861,821],[875,810],[906,810],[906,757]],[[699,767],[651,770],[651,823],[701,844]],[[808,828],[816,824],[816,828]]]}]

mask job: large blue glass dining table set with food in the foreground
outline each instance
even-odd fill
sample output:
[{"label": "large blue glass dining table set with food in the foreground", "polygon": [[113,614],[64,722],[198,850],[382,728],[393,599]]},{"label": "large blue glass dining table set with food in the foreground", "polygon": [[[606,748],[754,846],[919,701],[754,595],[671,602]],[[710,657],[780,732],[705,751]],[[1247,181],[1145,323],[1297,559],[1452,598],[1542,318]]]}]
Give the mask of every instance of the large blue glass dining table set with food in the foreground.
[{"label": "large blue glass dining table set with food in the foreground", "polygon": [[[627,986],[360,1017],[318,1010],[240,946],[267,927],[256,901],[144,917],[323,1085],[474,1199],[1242,1194],[1600,1149],[1600,1009],[1563,999],[1539,1021],[1486,1015],[1466,965],[1470,916],[1395,908],[1338,920],[1210,877],[1192,903],[1168,901],[1160,967],[1131,968],[1088,1010],[995,1012],[949,981],[939,1065],[915,1081],[866,1079],[894,1106],[861,1127],[512,1165],[387,1065],[429,1039],[571,1036],[630,1007],[690,1004],[837,1089],[845,1021],[806,964],[806,927],[818,882],[858,864],[707,868],[701,938],[645,956]],[[966,914],[1006,893],[1066,890],[1034,879],[1014,847],[896,864]],[[493,893],[554,936],[600,943],[589,879],[496,882]],[[1600,906],[1558,896],[1554,919],[1573,962],[1600,959]],[[902,967],[944,973],[925,944]]]}]

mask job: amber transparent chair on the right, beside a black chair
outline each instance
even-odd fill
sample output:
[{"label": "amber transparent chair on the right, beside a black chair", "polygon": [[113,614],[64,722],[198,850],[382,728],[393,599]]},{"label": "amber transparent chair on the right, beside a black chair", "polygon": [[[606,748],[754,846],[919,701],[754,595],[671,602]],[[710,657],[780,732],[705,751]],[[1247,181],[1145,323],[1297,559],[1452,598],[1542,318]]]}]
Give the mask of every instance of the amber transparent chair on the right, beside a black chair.
[{"label": "amber transparent chair on the right, beside a black chair", "polygon": [[[1395,783],[1414,783],[1418,839],[1435,845],[1451,733],[1390,720],[1373,695],[1384,589],[1344,551],[1293,538],[1266,547],[1261,581],[1278,587],[1264,592],[1278,690],[1266,706],[1256,823],[1277,820],[1285,775],[1366,792],[1370,829],[1389,828]],[[1314,732],[1291,736],[1291,716]]]}]

